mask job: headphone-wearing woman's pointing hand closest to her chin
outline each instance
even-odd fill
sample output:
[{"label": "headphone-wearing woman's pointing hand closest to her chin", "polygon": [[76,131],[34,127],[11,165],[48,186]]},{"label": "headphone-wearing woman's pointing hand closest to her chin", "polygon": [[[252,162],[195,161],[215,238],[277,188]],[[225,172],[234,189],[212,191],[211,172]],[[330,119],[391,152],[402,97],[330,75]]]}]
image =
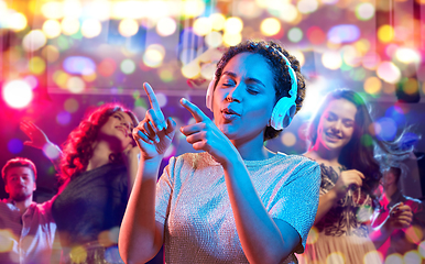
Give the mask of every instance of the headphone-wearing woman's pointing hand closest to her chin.
[{"label": "headphone-wearing woman's pointing hand closest to her chin", "polygon": [[217,125],[194,103],[182,98],[181,103],[194,117],[196,123],[181,128],[186,135],[186,141],[197,151],[208,152],[216,162],[225,165],[230,162],[232,152],[237,152],[229,139],[217,128]]}]

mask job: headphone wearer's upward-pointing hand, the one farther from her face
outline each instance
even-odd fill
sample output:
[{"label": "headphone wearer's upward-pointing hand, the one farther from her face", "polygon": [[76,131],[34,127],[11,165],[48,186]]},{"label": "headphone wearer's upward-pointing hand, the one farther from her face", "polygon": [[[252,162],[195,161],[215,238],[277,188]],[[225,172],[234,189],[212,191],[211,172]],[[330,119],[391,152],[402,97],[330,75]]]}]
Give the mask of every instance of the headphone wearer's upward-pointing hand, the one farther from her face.
[{"label": "headphone wearer's upward-pointing hand, the one farther from her face", "polygon": [[151,109],[146,111],[139,125],[133,129],[133,138],[142,157],[146,161],[165,153],[173,141],[176,123],[172,118],[164,119],[152,87],[144,82],[143,88],[151,102]]}]

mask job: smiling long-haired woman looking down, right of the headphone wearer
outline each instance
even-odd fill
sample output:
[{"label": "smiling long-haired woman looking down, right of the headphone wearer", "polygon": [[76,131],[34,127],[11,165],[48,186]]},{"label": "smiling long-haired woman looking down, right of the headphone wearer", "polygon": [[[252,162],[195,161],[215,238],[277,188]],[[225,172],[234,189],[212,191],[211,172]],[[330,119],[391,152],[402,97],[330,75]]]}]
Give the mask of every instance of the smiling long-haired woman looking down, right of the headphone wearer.
[{"label": "smiling long-haired woman looking down, right of the headphone wearer", "polygon": [[367,263],[380,263],[375,248],[394,229],[411,223],[410,207],[397,204],[382,226],[370,229],[372,208],[378,207],[373,193],[382,177],[371,141],[383,152],[392,148],[392,143],[377,140],[371,128],[364,100],[348,89],[330,92],[310,123],[310,146],[304,155],[320,164],[322,184],[315,220],[318,239],[307,245],[306,263],[327,263],[327,257],[331,263],[338,257],[348,264],[363,263],[364,257]]}]

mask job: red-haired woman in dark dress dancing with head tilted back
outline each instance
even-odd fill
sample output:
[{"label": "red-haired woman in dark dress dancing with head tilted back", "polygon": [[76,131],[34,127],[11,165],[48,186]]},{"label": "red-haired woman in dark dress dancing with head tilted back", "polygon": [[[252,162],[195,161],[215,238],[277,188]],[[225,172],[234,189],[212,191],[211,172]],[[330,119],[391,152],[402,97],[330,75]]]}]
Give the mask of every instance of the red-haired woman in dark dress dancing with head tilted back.
[{"label": "red-haired woman in dark dress dancing with head tilted back", "polygon": [[[81,121],[65,142],[64,184],[52,207],[62,263],[122,263],[113,237],[138,169],[139,150],[131,136],[137,124],[131,111],[106,105]],[[24,122],[21,128],[32,140],[29,145],[41,148],[50,143],[35,125]]]}]

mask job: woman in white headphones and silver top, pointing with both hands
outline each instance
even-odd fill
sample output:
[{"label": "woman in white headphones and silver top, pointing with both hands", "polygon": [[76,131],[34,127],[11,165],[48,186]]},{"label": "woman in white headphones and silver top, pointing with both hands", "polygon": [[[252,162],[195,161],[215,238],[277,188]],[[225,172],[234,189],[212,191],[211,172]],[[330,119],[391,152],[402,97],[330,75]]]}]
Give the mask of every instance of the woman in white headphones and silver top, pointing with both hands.
[{"label": "woman in white headphones and silver top, pointing with both hands", "polygon": [[196,120],[181,131],[205,152],[171,158],[157,185],[175,123],[144,88],[152,109],[133,130],[142,156],[120,231],[123,260],[144,263],[164,244],[166,263],[294,263],[316,215],[319,167],[264,141],[301,108],[298,61],[274,42],[230,47],[207,91],[215,121],[181,100]]}]

